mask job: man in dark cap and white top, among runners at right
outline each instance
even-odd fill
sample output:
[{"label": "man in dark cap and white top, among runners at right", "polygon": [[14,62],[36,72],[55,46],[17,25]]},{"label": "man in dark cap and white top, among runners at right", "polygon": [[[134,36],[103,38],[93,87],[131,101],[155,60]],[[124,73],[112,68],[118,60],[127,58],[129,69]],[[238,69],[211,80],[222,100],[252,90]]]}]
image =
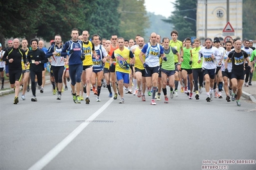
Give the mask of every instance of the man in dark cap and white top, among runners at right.
[{"label": "man in dark cap and white top, among runners at right", "polygon": [[[214,79],[214,98],[222,98],[221,91],[223,87],[223,77],[222,77],[222,72],[221,72],[221,66],[224,64],[222,63],[223,61],[223,56],[225,49],[220,46],[221,41],[219,40],[218,37],[214,38],[214,46],[219,50],[221,53],[221,57],[216,58],[216,73],[215,73],[215,79]],[[216,85],[218,84],[218,87],[216,88]]]}]

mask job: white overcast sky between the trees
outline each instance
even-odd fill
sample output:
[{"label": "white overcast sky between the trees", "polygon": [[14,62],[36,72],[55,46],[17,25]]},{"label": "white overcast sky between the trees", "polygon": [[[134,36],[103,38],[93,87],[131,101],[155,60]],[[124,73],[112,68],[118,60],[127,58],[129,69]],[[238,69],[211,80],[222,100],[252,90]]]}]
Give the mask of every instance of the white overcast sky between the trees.
[{"label": "white overcast sky between the trees", "polygon": [[169,17],[173,11],[173,4],[171,2],[174,3],[175,0],[145,0],[145,6],[148,12]]}]

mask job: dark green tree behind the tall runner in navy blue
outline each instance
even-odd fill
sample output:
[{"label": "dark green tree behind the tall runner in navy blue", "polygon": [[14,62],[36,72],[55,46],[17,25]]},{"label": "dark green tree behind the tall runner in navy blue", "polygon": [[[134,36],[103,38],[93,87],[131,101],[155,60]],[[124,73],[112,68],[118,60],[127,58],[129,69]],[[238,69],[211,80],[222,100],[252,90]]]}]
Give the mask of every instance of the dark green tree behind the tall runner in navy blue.
[{"label": "dark green tree behind the tall runner in navy blue", "polygon": [[[44,20],[38,23],[38,37],[50,41],[56,34],[65,42],[71,38],[71,30],[78,28],[80,34],[89,29],[89,16],[96,8],[95,1],[86,0],[52,0],[40,6]],[[47,9],[47,10],[46,10]]]}]

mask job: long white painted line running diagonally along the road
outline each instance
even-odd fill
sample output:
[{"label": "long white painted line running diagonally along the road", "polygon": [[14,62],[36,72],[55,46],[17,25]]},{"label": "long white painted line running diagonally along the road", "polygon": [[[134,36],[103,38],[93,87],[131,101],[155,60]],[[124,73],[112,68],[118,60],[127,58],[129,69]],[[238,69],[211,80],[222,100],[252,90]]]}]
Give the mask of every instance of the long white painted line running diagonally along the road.
[{"label": "long white painted line running diagonally along the road", "polygon": [[71,143],[74,138],[76,138],[77,135],[83,131],[85,127],[87,127],[90,122],[92,122],[101,112],[103,112],[108,105],[110,105],[113,102],[113,98],[110,98],[106,104],[104,104],[101,108],[98,109],[98,111],[94,112],[92,116],[90,116],[85,122],[81,123],[76,129],[71,132],[71,134],[67,135],[65,139],[63,139],[60,143],[58,143],[52,150],[50,150],[44,157],[40,158],[33,166],[31,166],[28,170],[34,170],[34,169],[43,169],[53,158],[55,158],[64,148]]}]

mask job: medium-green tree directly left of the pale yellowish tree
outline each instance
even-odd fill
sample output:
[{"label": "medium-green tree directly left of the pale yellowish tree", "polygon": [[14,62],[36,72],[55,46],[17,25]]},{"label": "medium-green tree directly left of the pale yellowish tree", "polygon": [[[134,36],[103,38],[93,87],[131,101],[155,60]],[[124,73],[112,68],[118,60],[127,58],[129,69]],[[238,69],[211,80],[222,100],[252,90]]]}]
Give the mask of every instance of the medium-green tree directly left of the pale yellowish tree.
[{"label": "medium-green tree directly left of the pale yellowish tree", "polygon": [[94,11],[89,14],[90,24],[87,23],[87,30],[90,35],[98,34],[101,38],[111,38],[111,35],[119,35],[119,13],[117,9],[119,1],[96,0]]}]

